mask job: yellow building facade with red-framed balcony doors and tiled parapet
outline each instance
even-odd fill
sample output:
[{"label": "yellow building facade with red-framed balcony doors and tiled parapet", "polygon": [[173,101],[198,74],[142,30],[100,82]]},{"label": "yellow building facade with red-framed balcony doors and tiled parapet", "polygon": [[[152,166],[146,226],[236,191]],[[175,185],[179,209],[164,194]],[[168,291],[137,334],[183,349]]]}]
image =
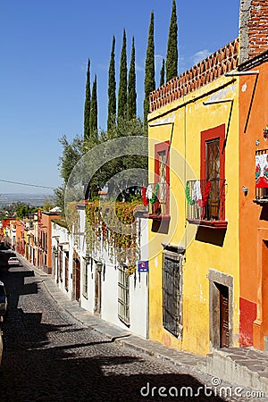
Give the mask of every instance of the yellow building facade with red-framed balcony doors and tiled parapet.
[{"label": "yellow building facade with red-framed balcony doors and tiled parapet", "polygon": [[239,345],[237,63],[235,40],[157,89],[148,116],[150,338],[201,355]]}]

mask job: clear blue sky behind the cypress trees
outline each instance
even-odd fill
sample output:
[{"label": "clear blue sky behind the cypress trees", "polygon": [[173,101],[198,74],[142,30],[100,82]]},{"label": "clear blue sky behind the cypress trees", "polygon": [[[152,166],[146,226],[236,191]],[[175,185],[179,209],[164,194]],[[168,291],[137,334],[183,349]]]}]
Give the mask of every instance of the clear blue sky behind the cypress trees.
[{"label": "clear blue sky behind the cypress trees", "polygon": [[[107,80],[115,36],[117,88],[122,30],[128,63],[135,38],[138,114],[144,99],[144,64],[150,13],[155,13],[155,80],[159,83],[172,0],[8,0],[0,3],[1,180],[58,187],[58,138],[83,133],[88,58],[96,74],[98,125],[106,129]],[[239,35],[239,0],[177,0],[179,69]],[[0,194],[49,190],[0,181]]]}]

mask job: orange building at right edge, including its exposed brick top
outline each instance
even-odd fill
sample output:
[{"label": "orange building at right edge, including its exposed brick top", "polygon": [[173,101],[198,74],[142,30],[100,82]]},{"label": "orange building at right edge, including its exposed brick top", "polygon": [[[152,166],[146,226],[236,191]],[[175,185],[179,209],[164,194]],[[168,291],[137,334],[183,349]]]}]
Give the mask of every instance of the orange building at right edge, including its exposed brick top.
[{"label": "orange building at right edge, including its exposed brick top", "polygon": [[240,345],[264,349],[268,336],[267,2],[243,2],[241,21],[237,76]]}]

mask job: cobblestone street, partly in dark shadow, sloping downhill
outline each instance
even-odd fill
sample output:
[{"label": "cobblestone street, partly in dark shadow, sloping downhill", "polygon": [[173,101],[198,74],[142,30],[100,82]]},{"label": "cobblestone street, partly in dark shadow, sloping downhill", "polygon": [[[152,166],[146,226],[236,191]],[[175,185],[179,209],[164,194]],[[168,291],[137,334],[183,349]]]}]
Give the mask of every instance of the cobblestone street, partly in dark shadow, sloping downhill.
[{"label": "cobblestone street, partly in dark shadow, sloping downhill", "polygon": [[[42,278],[29,269],[12,268],[1,279],[10,294],[2,325],[1,402],[227,400],[204,395],[203,389],[198,397],[186,397],[185,391],[180,398],[180,387],[192,387],[195,393],[203,384],[172,364],[122,348],[83,327],[54,303]],[[179,396],[159,397],[160,387],[166,389],[162,394],[174,387],[172,395],[178,389]]]}]

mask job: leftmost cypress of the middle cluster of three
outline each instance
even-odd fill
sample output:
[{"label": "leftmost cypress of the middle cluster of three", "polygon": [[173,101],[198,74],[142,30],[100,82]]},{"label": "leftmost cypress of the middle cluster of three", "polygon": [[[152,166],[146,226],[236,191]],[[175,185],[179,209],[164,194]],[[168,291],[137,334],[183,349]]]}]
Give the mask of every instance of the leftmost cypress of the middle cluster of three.
[{"label": "leftmost cypress of the middle cluster of three", "polygon": [[116,118],[116,81],[115,81],[114,48],[115,48],[115,38],[113,36],[112,52],[109,65],[109,79],[108,79],[107,131],[110,131],[114,127]]}]

